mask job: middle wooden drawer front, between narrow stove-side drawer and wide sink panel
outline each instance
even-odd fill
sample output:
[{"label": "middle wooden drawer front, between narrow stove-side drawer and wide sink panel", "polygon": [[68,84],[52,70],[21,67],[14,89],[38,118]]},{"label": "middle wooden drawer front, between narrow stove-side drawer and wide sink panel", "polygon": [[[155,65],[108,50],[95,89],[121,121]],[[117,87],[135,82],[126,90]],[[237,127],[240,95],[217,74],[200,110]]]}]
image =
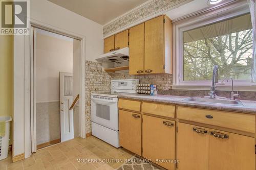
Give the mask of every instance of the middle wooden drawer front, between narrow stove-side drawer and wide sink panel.
[{"label": "middle wooden drawer front, between narrow stove-side drawer and wide sink panel", "polygon": [[174,118],[175,106],[143,102],[142,112]]}]

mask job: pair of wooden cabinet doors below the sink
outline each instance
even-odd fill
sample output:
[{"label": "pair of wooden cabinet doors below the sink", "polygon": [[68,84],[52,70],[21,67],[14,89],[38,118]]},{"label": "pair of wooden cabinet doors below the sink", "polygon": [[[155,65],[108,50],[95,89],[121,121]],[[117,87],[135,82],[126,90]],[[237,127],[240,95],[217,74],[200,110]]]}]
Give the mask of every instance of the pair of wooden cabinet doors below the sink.
[{"label": "pair of wooden cabinet doors below the sink", "polygon": [[255,170],[254,138],[178,123],[180,170]]}]

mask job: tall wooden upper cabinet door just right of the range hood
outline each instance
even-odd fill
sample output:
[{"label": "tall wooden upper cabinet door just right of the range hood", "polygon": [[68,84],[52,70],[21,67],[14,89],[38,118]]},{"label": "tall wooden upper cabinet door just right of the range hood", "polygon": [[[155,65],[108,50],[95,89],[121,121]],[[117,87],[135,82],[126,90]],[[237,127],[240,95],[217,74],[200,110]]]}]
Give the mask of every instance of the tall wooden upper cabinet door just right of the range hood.
[{"label": "tall wooden upper cabinet door just right of the range hood", "polygon": [[144,73],[144,23],[129,30],[130,75]]}]

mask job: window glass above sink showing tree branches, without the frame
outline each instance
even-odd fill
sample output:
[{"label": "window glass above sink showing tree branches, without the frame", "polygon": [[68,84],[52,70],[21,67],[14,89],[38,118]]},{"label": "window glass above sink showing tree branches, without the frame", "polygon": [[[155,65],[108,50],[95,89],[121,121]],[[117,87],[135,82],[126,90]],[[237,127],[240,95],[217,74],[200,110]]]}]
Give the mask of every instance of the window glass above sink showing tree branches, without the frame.
[{"label": "window glass above sink showing tree branches, without the frame", "polygon": [[219,66],[219,79],[251,79],[252,26],[250,14],[183,32],[183,81],[212,79]]}]

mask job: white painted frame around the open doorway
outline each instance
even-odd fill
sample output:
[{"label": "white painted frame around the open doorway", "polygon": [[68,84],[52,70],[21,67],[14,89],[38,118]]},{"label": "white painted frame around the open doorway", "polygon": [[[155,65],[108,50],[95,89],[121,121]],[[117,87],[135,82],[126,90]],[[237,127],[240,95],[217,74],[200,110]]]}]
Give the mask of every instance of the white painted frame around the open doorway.
[{"label": "white painted frame around the open doorway", "polygon": [[[40,22],[37,20],[30,19],[30,30],[33,30],[32,27],[40,28],[43,30],[47,30],[50,32],[58,33],[61,35],[65,35],[71,38],[75,38],[80,40],[81,42],[81,57],[80,57],[80,107],[79,107],[79,136],[81,138],[86,138],[86,102],[85,102],[85,77],[86,77],[86,36],[80,35],[77,33],[70,32],[65,29],[56,28],[47,23]],[[32,82],[32,63],[33,63],[33,34],[29,36],[25,36],[25,158],[30,157],[31,148],[34,150],[34,146],[36,146],[35,138],[35,129],[36,122],[35,119],[35,109],[32,108],[31,104],[34,103],[35,96],[33,95],[33,86]],[[33,72],[33,71],[32,71]],[[33,118],[33,119],[32,119]],[[31,140],[32,139],[32,140]],[[33,145],[33,147],[32,147]],[[35,152],[36,150],[32,151]]]}]

